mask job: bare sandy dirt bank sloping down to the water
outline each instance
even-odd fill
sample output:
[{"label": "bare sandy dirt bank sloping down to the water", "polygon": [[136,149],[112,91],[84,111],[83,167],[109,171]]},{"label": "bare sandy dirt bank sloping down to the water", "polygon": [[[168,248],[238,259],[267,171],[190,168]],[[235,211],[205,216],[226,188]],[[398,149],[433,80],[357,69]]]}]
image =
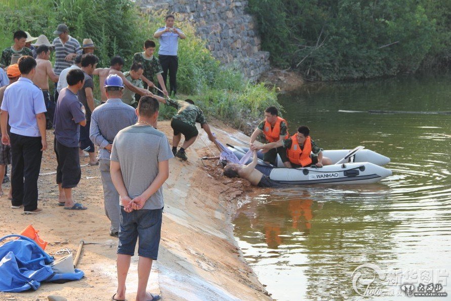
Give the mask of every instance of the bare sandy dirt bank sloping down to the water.
[{"label": "bare sandy dirt bank sloping down to the water", "polygon": [[[169,122],[160,122],[159,130],[172,137]],[[220,125],[214,132],[222,142],[246,140],[244,135]],[[187,152],[189,161],[170,161],[171,175],[165,183],[165,213],[158,261],[152,268],[149,291],[161,293],[165,300],[270,299],[264,287],[243,261],[232,233],[231,214],[249,184],[221,176],[216,161],[202,164],[200,157],[218,154],[199,128],[200,138]],[[231,140],[228,134],[235,137]],[[232,138],[233,139],[233,138]],[[54,171],[53,135],[48,132],[49,150],[44,154],[41,173]],[[87,163],[87,159],[82,160]],[[44,283],[37,291],[0,293],[2,300],[44,300],[60,295],[69,300],[107,300],[115,292],[115,251],[117,239],[108,235],[109,221],[104,216],[103,192],[97,166],[82,167],[82,180],[74,190],[76,201],[89,207],[69,211],[56,206],[58,188],[55,175],[39,177],[39,206],[44,211],[25,216],[11,209],[10,201],[0,199],[0,235],[19,233],[32,224],[47,240],[51,255],[68,248],[75,255],[78,243],[87,244],[78,268],[86,277],[65,284]],[[95,177],[87,179],[87,177]],[[9,184],[4,185],[8,191]],[[127,298],[133,300],[137,288],[138,257],[132,259]]]}]

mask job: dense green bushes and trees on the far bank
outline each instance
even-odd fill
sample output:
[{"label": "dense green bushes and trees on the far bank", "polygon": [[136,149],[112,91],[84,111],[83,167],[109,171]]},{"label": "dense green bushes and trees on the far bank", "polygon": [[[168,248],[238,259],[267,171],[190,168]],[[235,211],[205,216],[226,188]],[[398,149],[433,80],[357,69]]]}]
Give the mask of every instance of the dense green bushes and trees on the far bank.
[{"label": "dense green bushes and trees on the far bank", "polygon": [[273,64],[311,80],[415,72],[447,66],[446,0],[250,0]]}]

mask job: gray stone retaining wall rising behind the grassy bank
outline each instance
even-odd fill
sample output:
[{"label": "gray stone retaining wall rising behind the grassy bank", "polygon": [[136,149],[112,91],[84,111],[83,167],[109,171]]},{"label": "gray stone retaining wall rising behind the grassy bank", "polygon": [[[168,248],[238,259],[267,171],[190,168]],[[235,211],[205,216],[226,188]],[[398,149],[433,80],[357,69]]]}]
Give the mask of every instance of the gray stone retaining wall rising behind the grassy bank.
[{"label": "gray stone retaining wall rising behind the grassy bank", "polygon": [[137,0],[146,13],[180,14],[190,21],[206,47],[223,64],[237,66],[245,78],[256,81],[269,69],[269,53],[261,51],[256,22],[245,13],[244,0]]}]

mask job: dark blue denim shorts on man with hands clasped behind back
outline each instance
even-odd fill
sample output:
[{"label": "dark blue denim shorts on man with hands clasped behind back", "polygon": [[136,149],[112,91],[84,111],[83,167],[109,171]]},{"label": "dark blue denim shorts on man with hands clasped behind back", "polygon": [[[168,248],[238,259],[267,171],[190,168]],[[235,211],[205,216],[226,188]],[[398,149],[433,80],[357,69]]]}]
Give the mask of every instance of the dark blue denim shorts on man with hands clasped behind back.
[{"label": "dark blue denim shorts on man with hands clasped behind back", "polygon": [[126,212],[120,206],[120,229],[118,254],[135,254],[136,241],[139,237],[138,255],[156,260],[161,235],[163,208],[155,210],[133,210]]}]

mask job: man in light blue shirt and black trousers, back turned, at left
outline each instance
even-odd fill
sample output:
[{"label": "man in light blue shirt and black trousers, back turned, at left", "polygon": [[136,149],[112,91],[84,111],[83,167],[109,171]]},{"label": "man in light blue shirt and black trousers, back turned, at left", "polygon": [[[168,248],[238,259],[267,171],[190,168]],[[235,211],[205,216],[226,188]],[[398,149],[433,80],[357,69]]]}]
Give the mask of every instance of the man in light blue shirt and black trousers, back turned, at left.
[{"label": "man in light blue shirt and black trousers, back turned, at left", "polygon": [[[42,91],[33,84],[36,61],[22,56],[19,61],[22,76],[5,90],[0,113],[2,143],[11,144],[12,196],[11,208],[24,207],[25,214],[38,213],[37,178],[43,151],[47,149],[46,104]],[[11,125],[11,136],[7,122]]]}]

